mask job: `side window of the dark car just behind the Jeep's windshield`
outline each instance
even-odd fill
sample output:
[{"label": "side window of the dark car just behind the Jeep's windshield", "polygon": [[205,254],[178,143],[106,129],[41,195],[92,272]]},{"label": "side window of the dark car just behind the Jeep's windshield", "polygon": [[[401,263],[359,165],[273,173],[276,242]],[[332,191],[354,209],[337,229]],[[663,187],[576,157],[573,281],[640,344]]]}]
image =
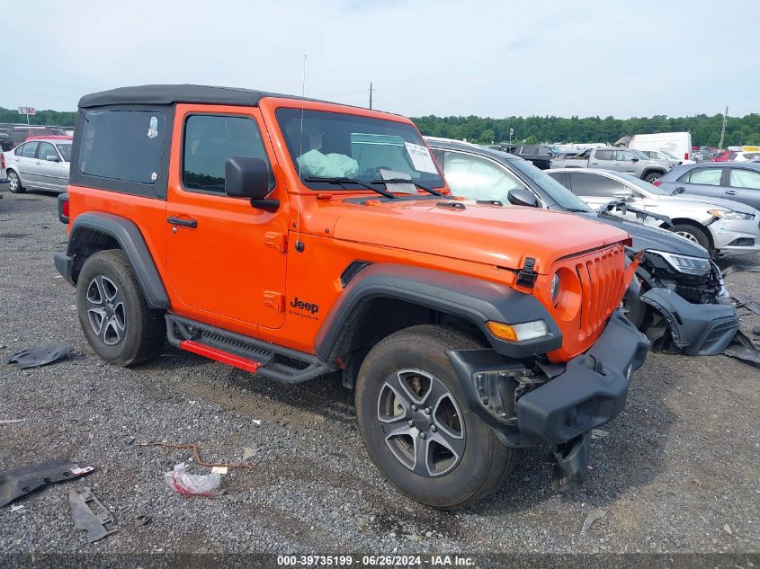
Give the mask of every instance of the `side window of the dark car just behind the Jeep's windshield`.
[{"label": "side window of the dark car just behind the Jeep's windshield", "polygon": [[445,153],[443,175],[454,195],[472,200],[499,200],[507,203],[510,190],[525,188],[523,182],[505,166],[459,152]]}]

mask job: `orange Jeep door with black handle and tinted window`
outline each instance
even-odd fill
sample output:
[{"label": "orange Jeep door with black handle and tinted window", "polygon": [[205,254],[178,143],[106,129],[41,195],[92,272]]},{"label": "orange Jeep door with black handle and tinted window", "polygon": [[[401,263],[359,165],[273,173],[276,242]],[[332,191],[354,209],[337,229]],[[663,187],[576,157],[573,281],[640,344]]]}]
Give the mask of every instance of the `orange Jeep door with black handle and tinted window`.
[{"label": "orange Jeep door with black handle and tinted window", "polygon": [[[241,333],[279,328],[285,316],[287,194],[265,132],[255,108],[177,105],[165,226],[173,309]],[[269,165],[277,210],[225,193],[232,157]]]}]

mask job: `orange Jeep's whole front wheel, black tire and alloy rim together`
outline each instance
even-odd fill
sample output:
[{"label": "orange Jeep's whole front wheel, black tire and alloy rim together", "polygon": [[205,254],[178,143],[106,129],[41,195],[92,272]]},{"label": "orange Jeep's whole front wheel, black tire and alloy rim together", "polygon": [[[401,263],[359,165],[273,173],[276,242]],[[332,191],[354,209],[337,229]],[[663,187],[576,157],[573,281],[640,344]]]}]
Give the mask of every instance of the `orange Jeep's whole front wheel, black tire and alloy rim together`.
[{"label": "orange Jeep's whole front wheel, black tire and alloy rim together", "polygon": [[[375,466],[401,493],[416,502],[442,510],[464,507],[487,496],[512,471],[517,457],[517,449],[505,447],[496,433],[469,410],[459,379],[445,353],[446,350],[470,348],[482,348],[482,345],[441,326],[412,326],[390,334],[375,345],[362,362],[356,381],[359,430]],[[420,384],[416,395],[421,397],[423,404],[416,412],[410,411],[412,405],[404,409],[405,404],[399,404],[395,392],[389,388],[389,382],[397,378],[401,380],[404,370],[407,370],[403,379],[407,387]],[[423,387],[425,382],[433,386],[436,379],[440,381],[440,384],[435,384],[439,390],[436,393],[440,395],[447,390],[447,395],[434,396],[432,387]],[[441,390],[441,384],[445,389]],[[386,397],[391,398],[389,405],[385,403]],[[437,402],[432,413],[435,419],[430,418],[431,413],[427,415],[427,420],[433,424],[426,427],[427,431],[425,426],[419,430],[418,422],[425,422],[426,412],[422,407],[429,408],[427,404],[433,400]],[[411,401],[410,398],[407,403]],[[399,406],[402,407],[400,410]],[[384,409],[394,413],[388,416],[387,421],[390,422],[380,419],[380,414],[385,413]],[[436,444],[435,439],[442,436],[452,440],[439,420],[446,421],[447,430],[460,434],[459,457],[449,450],[453,447]],[[415,423],[414,426],[412,423]],[[405,425],[410,431],[416,429],[416,435],[389,434],[392,429],[403,431]],[[425,438],[422,443],[425,446],[418,447],[423,440],[420,436],[423,431],[430,433],[430,440]],[[415,471],[418,460],[409,465],[412,458],[401,450],[404,446],[409,455],[415,456],[416,449],[426,449],[424,474]],[[399,456],[404,457],[406,464]],[[439,462],[434,463],[434,458],[439,458]],[[430,474],[430,466],[434,466],[434,474]]]}]

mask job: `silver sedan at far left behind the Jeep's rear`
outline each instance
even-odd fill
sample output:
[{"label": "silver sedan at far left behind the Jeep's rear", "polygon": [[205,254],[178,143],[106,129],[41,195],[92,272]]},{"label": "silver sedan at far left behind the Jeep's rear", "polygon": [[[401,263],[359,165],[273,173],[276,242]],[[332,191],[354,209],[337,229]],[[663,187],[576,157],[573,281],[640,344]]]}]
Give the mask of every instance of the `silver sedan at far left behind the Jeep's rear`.
[{"label": "silver sedan at far left behind the Jeep's rear", "polygon": [[6,151],[9,190],[66,191],[71,162],[71,138],[33,138]]}]

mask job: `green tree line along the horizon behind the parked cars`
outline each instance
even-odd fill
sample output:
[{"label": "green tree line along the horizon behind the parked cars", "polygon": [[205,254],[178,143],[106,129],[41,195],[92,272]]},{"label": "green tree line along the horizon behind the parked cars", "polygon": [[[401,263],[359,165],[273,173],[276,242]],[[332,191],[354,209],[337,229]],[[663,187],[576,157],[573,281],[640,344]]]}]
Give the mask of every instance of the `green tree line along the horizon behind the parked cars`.
[{"label": "green tree line along the horizon behind the parked cars", "polygon": [[[37,111],[29,118],[34,125],[55,125],[73,127],[76,111]],[[723,115],[705,114],[693,117],[633,117],[615,119],[614,117],[507,117],[490,119],[476,117],[426,117],[413,118],[420,131],[427,136],[443,138],[466,138],[470,142],[491,144],[507,142],[509,129],[514,129],[512,140],[537,144],[590,142],[612,143],[618,138],[632,134],[649,134],[655,132],[692,133],[692,143],[696,146],[717,147],[720,143],[720,129]],[[0,107],[0,123],[24,123],[26,117],[19,115],[15,109]],[[723,147],[760,145],[760,114],[753,113],[744,117],[729,117],[726,139]]]}]

